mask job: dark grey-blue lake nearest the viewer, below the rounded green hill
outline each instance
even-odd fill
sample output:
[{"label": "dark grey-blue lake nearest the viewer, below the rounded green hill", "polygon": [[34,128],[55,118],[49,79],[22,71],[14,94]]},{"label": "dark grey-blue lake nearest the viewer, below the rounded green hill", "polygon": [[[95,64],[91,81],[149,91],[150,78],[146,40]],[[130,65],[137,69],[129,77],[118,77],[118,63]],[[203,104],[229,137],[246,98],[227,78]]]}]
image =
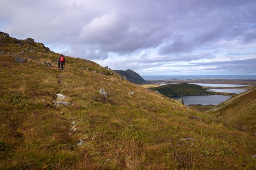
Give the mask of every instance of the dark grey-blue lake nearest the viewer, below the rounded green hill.
[{"label": "dark grey-blue lake nearest the viewer, below the rounded green hill", "polygon": [[208,96],[173,96],[170,97],[172,99],[178,100],[183,99],[185,105],[190,104],[202,104],[202,105],[217,105],[221,102],[225,102],[231,96],[223,96],[223,95],[208,95]]}]

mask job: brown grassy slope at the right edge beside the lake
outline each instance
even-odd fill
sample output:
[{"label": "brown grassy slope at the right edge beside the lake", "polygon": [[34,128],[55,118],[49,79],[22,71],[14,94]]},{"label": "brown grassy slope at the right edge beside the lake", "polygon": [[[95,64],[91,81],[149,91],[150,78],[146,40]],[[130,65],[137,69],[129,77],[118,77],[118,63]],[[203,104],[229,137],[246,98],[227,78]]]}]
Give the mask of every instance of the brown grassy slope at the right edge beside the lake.
[{"label": "brown grassy slope at the right edge beside the lake", "polygon": [[256,132],[256,88],[238,94],[208,111],[236,129]]}]

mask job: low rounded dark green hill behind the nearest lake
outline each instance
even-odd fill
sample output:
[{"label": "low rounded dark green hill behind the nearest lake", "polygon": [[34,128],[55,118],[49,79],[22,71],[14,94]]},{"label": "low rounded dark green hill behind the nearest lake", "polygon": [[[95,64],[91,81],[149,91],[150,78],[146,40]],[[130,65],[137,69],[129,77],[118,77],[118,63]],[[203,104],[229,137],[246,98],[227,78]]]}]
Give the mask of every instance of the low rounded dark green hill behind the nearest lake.
[{"label": "low rounded dark green hill behind the nearest lake", "polygon": [[206,91],[202,86],[188,83],[166,84],[149,89],[157,90],[164,96],[196,96],[214,94],[214,92]]}]

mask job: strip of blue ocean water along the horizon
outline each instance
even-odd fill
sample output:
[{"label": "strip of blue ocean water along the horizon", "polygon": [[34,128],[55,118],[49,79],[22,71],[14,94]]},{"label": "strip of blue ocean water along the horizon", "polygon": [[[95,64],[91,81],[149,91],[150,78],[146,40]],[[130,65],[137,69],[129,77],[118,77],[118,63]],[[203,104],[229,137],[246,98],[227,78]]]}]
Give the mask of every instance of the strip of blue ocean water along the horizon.
[{"label": "strip of blue ocean water along the horizon", "polygon": [[171,79],[179,79],[179,80],[188,80],[188,79],[239,79],[239,80],[247,80],[252,79],[256,80],[256,75],[192,75],[192,76],[148,76],[141,75],[144,80],[171,80]]}]

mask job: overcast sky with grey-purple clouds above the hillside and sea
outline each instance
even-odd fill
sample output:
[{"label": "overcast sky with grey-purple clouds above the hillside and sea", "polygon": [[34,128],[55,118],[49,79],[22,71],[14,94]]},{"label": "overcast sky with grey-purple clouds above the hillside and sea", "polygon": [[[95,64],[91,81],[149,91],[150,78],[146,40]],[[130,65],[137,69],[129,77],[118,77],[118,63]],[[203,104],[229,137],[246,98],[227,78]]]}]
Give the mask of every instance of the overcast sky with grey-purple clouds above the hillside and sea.
[{"label": "overcast sky with grey-purple clouds above the hillside and sea", "polygon": [[141,75],[256,75],[256,0],[0,0],[0,31]]}]

